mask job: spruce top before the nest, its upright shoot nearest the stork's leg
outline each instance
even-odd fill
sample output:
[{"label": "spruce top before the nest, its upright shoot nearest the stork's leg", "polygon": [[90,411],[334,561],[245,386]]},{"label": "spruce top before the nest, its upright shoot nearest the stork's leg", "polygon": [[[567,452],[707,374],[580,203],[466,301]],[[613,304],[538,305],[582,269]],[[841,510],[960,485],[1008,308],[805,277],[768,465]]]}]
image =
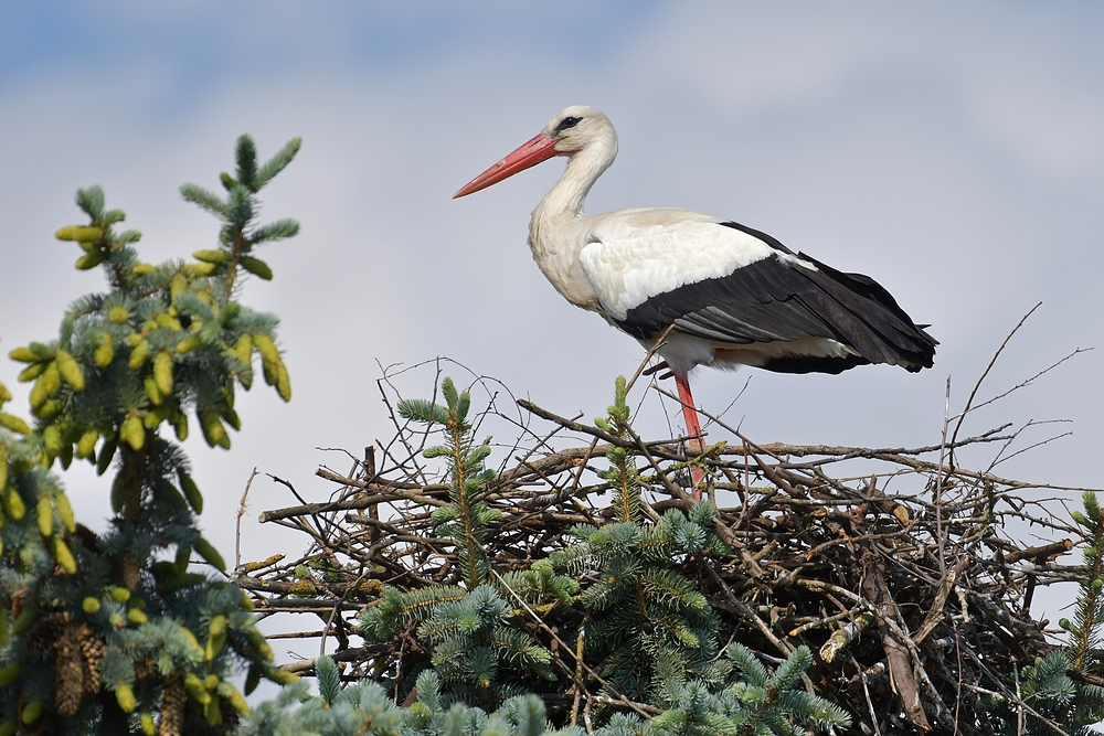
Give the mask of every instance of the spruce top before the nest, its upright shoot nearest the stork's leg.
[{"label": "spruce top before the nest, its upright shoot nearest the stork's leg", "polygon": [[[618,377],[607,418],[595,424],[630,437],[626,383]],[[614,523],[576,525],[578,544],[551,556],[558,569],[594,580],[580,596],[588,615],[586,641],[602,658],[602,674],[620,693],[660,697],[671,684],[718,682],[718,620],[687,576],[694,556],[728,551],[713,532],[715,508],[701,501],[684,513],[669,509],[645,521],[641,479],[633,452],[614,446],[601,472],[613,492]]]}]

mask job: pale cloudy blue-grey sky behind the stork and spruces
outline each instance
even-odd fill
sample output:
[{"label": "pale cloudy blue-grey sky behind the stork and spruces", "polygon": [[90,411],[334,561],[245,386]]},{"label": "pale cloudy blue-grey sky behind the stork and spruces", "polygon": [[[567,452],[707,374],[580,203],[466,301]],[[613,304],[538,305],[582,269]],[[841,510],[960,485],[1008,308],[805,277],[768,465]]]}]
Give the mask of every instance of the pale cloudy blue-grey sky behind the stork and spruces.
[{"label": "pale cloudy blue-grey sky behind the stork and spruces", "polygon": [[[240,134],[263,158],[301,136],[264,192],[264,216],[295,217],[301,234],[266,249],[275,279],[243,295],[282,319],[294,398],[258,382],[238,398],[230,452],[199,433],[185,444],[216,545],[233,550],[255,467],[321,501],[335,488],[315,469],[349,460],[318,448],[360,455],[390,438],[384,366],[448,356],[461,383],[493,376],[560,415],[601,415],[644,352],[564,302],[532,262],[529,213],[561,163],[450,199],[585,104],[620,136],[587,212],[736,220],[873,276],[941,342],[921,374],[703,370],[702,407],[760,442],[937,444],[948,380],[953,414],[1036,303],[979,397],[1104,348],[1102,33],[1104,6],[1087,1],[4,3],[0,350],[54,338],[72,300],[105,288],[53,238],[81,221],[78,188],[102,184],[128,213],[145,260],[184,257],[214,247],[217,227],[179,185],[217,188]],[[1076,355],[963,433],[1068,420],[1026,429],[1013,449],[1073,434],[999,472],[1101,487],[1102,359]],[[25,402],[18,372],[0,362]],[[434,376],[431,363],[395,385],[428,396]],[[678,407],[638,392],[640,434],[678,431]],[[966,457],[984,467],[992,452]],[[107,516],[104,479],[76,469],[65,483],[78,518]],[[300,551],[255,522],[291,504],[254,482],[245,558]]]}]

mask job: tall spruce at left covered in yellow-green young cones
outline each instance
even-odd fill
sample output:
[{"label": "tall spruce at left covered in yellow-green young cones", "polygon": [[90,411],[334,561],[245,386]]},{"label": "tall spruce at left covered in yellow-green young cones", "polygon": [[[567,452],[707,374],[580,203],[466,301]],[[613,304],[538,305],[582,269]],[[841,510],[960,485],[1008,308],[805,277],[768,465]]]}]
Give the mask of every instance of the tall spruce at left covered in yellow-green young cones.
[{"label": "tall spruce at left covered in yellow-green young cones", "polygon": [[[224,194],[181,188],[222,224],[194,262],[144,263],[140,234],[119,228],[125,215],[98,186],[76,196],[87,222],[57,231],[79,247],[76,267],[99,267],[108,288],[73,302],[56,339],[11,351],[26,365],[19,380],[33,382],[33,426],[0,414],[0,733],[225,734],[248,711],[237,672],[248,669],[251,684],[288,680],[270,665],[251,599],[191,566],[195,553],[225,569],[199,527],[203,498],[177,442],[191,416],[209,445],[230,447],[254,353],[290,398],[276,317],[238,297],[244,275],[272,278],[257,248],[298,231],[256,222],[258,192],[298,148],[258,166],[243,136]],[[62,488],[56,468],[75,460],[112,477],[104,533],[77,523]]]}]

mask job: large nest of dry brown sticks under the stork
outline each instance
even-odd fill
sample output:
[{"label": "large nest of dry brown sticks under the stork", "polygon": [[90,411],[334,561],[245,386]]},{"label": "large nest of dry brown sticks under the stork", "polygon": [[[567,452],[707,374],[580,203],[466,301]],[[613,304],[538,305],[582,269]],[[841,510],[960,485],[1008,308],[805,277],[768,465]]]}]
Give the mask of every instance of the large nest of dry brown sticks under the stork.
[{"label": "large nest of dry brown sticks under the stork", "polygon": [[[381,385],[394,406],[393,385]],[[1061,491],[1082,489],[956,465],[966,446],[1007,447],[1012,435],[1004,428],[962,440],[945,431],[928,447],[862,448],[757,445],[718,423],[710,441],[719,428],[731,431],[729,441],[698,456],[680,439],[618,439],[528,402],[517,405],[499,413],[492,401],[485,415],[509,415],[524,426],[481,495],[501,511],[486,540],[496,570],[524,568],[574,543],[574,524],[613,518],[608,489],[595,474],[608,467],[611,446],[637,455],[652,520],[671,506],[690,508],[689,468],[697,463],[719,508],[715,531],[733,552],[687,559],[681,573],[720,614],[722,644],[739,641],[774,663],[807,644],[815,662],[806,687],[847,708],[853,733],[957,723],[959,733],[988,734],[986,701],[1025,707],[1015,673],[1057,646],[1060,632],[1034,620],[1031,604],[1040,588],[1076,579],[1078,568],[1059,563],[1081,541],[1063,521],[1069,494]],[[448,500],[444,466],[420,455],[432,437],[394,412],[392,418],[394,437],[367,448],[351,471],[317,471],[335,484],[329,501],[261,514],[264,523],[307,535],[306,553],[240,565],[234,576],[263,614],[320,619],[320,628],[308,623],[276,638],[323,637],[347,679],[378,678],[384,662],[397,659],[400,671],[392,664],[388,674],[401,681],[403,668],[426,659],[413,637],[383,644],[359,639],[355,616],[384,585],[410,590],[455,584],[459,575],[455,550],[435,536],[431,520]],[[288,481],[274,480],[302,501]],[[1030,527],[1034,538],[1026,543]],[[538,618],[519,609],[519,618],[563,672],[583,671],[573,651],[580,610]],[[309,673],[312,664],[287,666]],[[562,676],[538,694],[555,718],[555,703],[609,702],[601,691],[593,679]]]}]

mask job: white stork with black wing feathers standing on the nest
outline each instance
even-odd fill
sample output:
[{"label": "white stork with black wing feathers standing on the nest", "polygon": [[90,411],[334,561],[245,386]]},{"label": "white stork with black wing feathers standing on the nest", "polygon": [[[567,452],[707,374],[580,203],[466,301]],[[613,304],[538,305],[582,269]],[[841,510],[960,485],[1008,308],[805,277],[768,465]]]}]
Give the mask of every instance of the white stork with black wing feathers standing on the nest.
[{"label": "white stork with black wing feathers standing on the nest", "polygon": [[587,192],[617,156],[614,126],[593,107],[563,110],[454,199],[553,156],[566,156],[567,168],[533,210],[533,258],[567,301],[648,350],[671,328],[658,353],[675,374],[690,438],[701,438],[689,384],[699,365],[783,373],[932,366],[936,340],[868,276],[700,212],[638,207],[584,216]]}]

